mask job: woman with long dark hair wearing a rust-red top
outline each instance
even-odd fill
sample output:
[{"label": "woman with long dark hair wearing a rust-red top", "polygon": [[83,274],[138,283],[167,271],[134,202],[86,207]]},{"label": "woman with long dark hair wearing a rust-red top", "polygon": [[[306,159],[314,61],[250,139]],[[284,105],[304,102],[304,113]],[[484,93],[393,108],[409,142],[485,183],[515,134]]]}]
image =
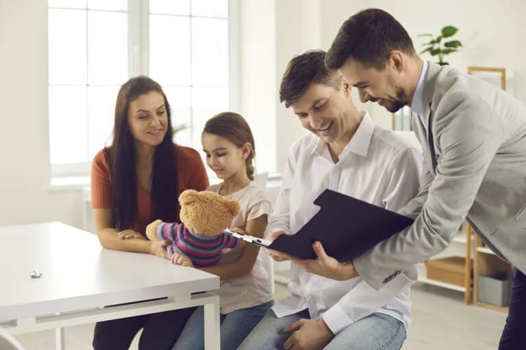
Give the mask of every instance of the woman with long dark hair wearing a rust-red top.
[{"label": "woman with long dark hair wearing a rust-red top", "polygon": [[[101,245],[168,258],[162,241],[149,241],[154,219],[178,221],[179,193],[202,191],[208,178],[199,153],[172,142],[170,105],[149,77],[129,79],[115,106],[114,139],[93,159],[91,196]],[[95,349],[128,349],[142,328],[140,349],[171,349],[194,308],[99,322]]]}]

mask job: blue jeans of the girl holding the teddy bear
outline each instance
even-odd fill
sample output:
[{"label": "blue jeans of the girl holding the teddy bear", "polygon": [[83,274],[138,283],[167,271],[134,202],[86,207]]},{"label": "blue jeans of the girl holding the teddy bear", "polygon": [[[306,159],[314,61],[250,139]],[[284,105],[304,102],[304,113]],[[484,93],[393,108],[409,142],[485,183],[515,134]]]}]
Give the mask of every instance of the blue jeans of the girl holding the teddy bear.
[{"label": "blue jeans of the girl holding the teddy bear", "polygon": [[[235,350],[274,305],[274,301],[221,314],[221,349]],[[200,306],[186,322],[172,350],[205,349],[204,311]]]}]

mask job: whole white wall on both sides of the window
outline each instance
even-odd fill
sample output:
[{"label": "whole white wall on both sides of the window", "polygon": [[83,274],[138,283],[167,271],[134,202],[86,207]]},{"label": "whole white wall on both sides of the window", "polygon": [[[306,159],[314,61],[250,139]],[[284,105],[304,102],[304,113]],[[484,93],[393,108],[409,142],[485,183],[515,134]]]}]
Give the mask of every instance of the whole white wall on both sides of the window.
[{"label": "whole white wall on both sides of the window", "polygon": [[[287,62],[308,49],[327,50],[346,18],[373,6],[401,21],[417,49],[422,40],[416,34],[458,26],[464,49],[450,56],[451,64],[462,70],[468,65],[507,68],[512,92],[526,103],[526,46],[521,42],[526,3],[521,0],[238,0],[238,105],[253,127],[256,164],[264,161],[271,164],[269,170],[282,170],[290,144],[305,133],[292,111],[279,104]],[[0,48],[0,226],[57,220],[81,227],[81,193],[49,191],[47,1],[0,0]],[[390,125],[383,108],[363,107],[377,122]]]}]

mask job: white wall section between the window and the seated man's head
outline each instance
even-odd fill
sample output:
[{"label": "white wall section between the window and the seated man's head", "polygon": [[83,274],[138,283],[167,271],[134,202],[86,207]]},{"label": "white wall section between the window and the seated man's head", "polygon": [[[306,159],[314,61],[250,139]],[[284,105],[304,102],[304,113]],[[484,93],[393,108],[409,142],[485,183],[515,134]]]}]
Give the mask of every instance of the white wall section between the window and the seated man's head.
[{"label": "white wall section between the window and the seated man's head", "polygon": [[253,129],[256,165],[281,172],[305,133],[279,103],[279,83],[294,55],[320,47],[320,0],[239,0],[240,112]]}]

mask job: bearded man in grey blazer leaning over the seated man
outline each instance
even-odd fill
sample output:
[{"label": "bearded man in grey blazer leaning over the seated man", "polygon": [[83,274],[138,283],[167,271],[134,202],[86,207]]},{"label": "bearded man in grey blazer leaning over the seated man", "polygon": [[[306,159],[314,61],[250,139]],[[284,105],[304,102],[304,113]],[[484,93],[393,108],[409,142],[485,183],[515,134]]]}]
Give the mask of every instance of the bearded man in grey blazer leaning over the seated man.
[{"label": "bearded man in grey blazer leaning over the seated man", "polygon": [[412,226],[353,262],[318,251],[317,260],[300,264],[338,280],[360,275],[381,288],[442,252],[467,219],[495,254],[516,267],[499,349],[523,348],[518,340],[526,324],[525,106],[489,83],[423,62],[407,31],[382,10],[364,10],[345,21],[325,64],[341,70],[362,102],[392,112],[411,107],[427,185],[399,211],[415,218]]}]

